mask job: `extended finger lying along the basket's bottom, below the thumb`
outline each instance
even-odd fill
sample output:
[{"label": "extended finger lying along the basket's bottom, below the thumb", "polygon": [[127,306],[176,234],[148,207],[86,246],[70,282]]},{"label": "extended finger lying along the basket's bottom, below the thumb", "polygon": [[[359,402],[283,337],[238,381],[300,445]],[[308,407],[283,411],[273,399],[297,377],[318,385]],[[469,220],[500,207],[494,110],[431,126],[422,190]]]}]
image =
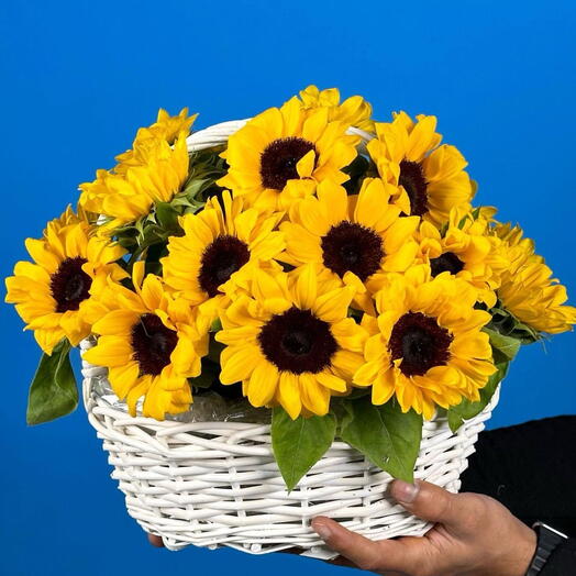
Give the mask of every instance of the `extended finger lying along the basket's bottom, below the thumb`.
[{"label": "extended finger lying along the basket's bottom, below the thumb", "polygon": [[373,542],[325,517],[314,518],[312,529],[332,550],[364,571],[409,573],[416,566],[417,558],[407,553],[401,541]]}]

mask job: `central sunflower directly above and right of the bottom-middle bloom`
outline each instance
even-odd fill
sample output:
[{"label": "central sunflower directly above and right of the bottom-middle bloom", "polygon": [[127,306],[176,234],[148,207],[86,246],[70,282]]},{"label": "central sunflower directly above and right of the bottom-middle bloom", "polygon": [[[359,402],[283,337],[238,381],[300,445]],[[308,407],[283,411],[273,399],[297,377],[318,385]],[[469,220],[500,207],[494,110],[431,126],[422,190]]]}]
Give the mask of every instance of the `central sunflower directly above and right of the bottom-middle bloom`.
[{"label": "central sunflower directly above and right of the bottom-middle bloom", "polygon": [[[290,210],[284,258],[292,265],[315,263],[345,284],[354,285],[357,300],[367,296],[364,285],[378,272],[405,272],[414,262],[418,244],[412,239],[420,219],[400,218],[390,203],[396,188],[379,178],[366,178],[357,196],[331,180],[318,186]],[[361,304],[362,308],[367,302]]]}]

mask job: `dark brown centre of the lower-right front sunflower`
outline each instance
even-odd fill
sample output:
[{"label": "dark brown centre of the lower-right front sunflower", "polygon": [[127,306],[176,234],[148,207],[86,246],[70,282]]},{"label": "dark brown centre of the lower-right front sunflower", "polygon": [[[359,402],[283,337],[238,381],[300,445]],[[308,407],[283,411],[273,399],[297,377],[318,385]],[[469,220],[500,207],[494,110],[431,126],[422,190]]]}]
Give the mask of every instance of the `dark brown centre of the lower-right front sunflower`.
[{"label": "dark brown centre of the lower-right front sunflower", "polygon": [[400,370],[406,376],[422,376],[450,359],[448,346],[454,336],[422,312],[408,312],[396,322],[388,350],[392,361],[402,358]]}]

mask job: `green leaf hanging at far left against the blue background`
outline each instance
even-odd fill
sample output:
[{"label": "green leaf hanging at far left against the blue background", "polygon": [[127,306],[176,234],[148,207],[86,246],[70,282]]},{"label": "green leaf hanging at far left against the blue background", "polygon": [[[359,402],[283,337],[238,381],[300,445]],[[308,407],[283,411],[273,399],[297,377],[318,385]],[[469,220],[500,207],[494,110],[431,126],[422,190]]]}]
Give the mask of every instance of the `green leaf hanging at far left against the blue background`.
[{"label": "green leaf hanging at far left against the blue background", "polygon": [[70,366],[70,344],[64,339],[52,356],[43,354],[30,386],[26,422],[41,424],[69,414],[78,406],[78,388]]}]

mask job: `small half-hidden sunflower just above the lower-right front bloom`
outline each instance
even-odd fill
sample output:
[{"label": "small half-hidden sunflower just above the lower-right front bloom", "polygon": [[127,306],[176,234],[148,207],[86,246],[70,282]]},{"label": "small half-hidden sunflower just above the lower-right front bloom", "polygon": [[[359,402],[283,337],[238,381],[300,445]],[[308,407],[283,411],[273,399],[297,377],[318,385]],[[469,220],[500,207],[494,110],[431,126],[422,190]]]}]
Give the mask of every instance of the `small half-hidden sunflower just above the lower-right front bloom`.
[{"label": "small half-hidden sunflower just above the lower-right front bloom", "polygon": [[419,259],[429,264],[432,277],[448,272],[468,281],[476,288],[478,301],[492,308],[495,290],[509,262],[500,250],[500,240],[490,232],[489,212],[484,210],[484,214],[454,208],[443,232],[424,220],[417,239]]}]

